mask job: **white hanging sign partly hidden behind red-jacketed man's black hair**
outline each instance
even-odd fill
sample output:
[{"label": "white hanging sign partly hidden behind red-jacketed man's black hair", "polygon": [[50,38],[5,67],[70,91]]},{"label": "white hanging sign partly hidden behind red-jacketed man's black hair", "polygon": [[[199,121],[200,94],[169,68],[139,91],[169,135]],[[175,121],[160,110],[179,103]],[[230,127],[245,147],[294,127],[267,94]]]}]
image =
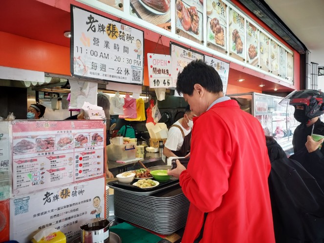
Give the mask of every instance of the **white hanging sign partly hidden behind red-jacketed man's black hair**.
[{"label": "white hanging sign partly hidden behind red-jacketed man's black hair", "polygon": [[188,48],[184,48],[183,46],[176,45],[174,43],[171,44],[170,50],[172,60],[172,87],[175,88],[178,73],[182,71],[183,68],[187,66],[191,61],[204,60],[204,55],[190,49],[188,50]]}]

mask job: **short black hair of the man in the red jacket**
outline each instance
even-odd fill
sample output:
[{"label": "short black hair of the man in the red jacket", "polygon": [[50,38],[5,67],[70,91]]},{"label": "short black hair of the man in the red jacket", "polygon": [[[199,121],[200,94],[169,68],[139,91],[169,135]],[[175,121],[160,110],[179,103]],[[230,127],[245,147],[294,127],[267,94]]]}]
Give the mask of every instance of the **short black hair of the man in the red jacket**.
[{"label": "short black hair of the man in the red jacket", "polygon": [[211,93],[223,91],[223,83],[214,67],[207,65],[202,60],[189,63],[182,72],[179,72],[176,91],[192,96],[194,84],[200,84]]}]

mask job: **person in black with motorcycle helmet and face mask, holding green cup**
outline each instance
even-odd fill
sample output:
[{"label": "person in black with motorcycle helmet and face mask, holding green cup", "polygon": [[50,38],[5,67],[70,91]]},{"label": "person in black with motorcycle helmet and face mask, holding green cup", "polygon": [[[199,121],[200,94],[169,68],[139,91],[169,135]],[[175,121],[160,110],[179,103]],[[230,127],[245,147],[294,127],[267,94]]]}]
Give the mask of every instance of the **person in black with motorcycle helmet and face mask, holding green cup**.
[{"label": "person in black with motorcycle helmet and face mask, holding green cup", "polygon": [[279,104],[294,106],[294,117],[301,122],[293,135],[294,155],[289,158],[300,162],[324,191],[324,146],[319,149],[324,139],[315,142],[311,137],[312,133],[324,135],[324,123],[320,120],[320,115],[324,114],[323,99],[323,92],[304,89],[292,92]]}]

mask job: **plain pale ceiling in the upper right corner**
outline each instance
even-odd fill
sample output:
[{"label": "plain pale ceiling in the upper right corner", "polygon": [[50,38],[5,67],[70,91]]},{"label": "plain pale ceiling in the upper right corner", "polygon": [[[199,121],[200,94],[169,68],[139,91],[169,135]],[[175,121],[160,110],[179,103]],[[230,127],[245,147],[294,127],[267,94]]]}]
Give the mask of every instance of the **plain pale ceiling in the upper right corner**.
[{"label": "plain pale ceiling in the upper right corner", "polygon": [[324,0],[265,0],[311,52],[310,61],[324,66]]}]

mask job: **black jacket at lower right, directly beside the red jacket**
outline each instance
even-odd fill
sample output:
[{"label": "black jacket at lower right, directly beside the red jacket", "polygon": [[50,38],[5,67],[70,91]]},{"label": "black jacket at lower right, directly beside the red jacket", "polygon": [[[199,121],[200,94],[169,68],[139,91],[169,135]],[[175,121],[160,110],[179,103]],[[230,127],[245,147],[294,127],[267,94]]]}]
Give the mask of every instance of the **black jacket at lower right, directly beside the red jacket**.
[{"label": "black jacket at lower right, directly beside the red jacket", "polygon": [[267,141],[268,179],[276,243],[322,242],[324,193],[300,163],[287,158],[276,141]]}]

